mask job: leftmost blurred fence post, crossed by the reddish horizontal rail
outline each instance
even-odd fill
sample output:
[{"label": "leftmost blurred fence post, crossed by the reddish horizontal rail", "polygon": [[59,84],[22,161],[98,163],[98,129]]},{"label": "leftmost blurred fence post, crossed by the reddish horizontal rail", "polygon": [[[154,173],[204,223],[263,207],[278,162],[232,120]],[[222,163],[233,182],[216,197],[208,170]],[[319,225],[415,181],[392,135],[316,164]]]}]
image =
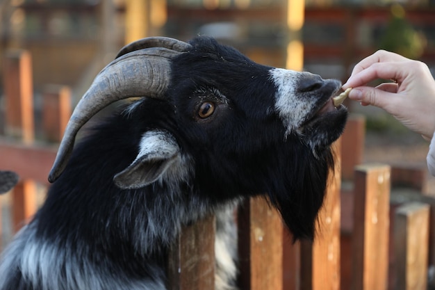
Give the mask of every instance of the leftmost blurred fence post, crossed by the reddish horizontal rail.
[{"label": "leftmost blurred fence post, crossed by the reddish horizontal rail", "polygon": [[[33,143],[33,76],[28,51],[9,52],[5,60],[6,134]],[[8,164],[6,164],[8,166]],[[19,172],[18,172],[19,173]],[[13,228],[17,231],[35,213],[35,182],[21,180],[13,190]]]}]

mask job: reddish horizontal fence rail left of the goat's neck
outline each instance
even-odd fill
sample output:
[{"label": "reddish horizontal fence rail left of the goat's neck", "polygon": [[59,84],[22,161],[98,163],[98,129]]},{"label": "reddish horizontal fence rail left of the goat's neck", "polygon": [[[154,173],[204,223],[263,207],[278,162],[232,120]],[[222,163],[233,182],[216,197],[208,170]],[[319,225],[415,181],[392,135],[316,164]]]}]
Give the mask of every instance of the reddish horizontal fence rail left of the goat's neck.
[{"label": "reddish horizontal fence rail left of the goat's neck", "polygon": [[0,139],[0,168],[17,172],[21,179],[48,184],[57,146],[23,145]]}]

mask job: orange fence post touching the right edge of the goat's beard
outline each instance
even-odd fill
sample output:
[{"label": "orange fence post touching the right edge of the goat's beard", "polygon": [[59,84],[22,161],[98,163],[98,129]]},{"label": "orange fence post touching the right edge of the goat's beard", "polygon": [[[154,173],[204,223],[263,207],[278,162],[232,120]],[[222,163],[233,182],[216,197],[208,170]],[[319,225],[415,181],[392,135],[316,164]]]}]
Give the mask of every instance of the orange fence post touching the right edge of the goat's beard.
[{"label": "orange fence post touching the right edge of the goat's beard", "polygon": [[340,289],[340,145],[334,143],[336,168],[329,175],[313,242],[301,243],[301,289]]}]

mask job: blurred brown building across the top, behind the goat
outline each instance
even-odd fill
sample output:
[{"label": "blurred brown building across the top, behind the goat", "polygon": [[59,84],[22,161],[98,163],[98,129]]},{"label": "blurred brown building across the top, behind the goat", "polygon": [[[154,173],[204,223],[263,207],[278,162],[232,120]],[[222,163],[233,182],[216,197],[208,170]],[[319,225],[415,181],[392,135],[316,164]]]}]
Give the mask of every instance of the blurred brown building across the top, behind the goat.
[{"label": "blurred brown building across the top, behind the goat", "polygon": [[[0,54],[30,50],[36,90],[61,83],[80,92],[124,45],[127,1],[3,0]],[[133,24],[144,24],[147,35],[181,40],[212,35],[259,63],[279,67],[286,65],[286,43],[296,37],[304,44],[305,70],[342,80],[356,61],[391,42],[384,40],[388,27],[397,25],[391,24],[392,7],[400,4],[404,27],[413,33],[411,42],[420,45],[416,58],[435,67],[435,0],[306,0],[304,26],[296,35],[289,35],[285,0],[142,2],[147,11]],[[395,26],[391,31],[397,31]],[[393,47],[405,42],[401,37],[390,37]]]}]

